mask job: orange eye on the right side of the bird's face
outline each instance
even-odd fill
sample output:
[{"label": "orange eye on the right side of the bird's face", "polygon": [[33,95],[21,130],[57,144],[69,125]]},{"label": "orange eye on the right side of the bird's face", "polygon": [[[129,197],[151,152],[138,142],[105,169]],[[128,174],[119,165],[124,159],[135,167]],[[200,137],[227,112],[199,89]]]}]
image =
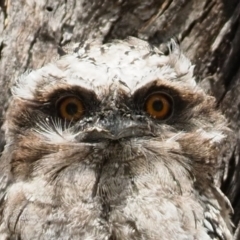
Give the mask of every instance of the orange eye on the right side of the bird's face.
[{"label": "orange eye on the right side of the bird's face", "polygon": [[172,98],[162,92],[149,95],[145,101],[145,110],[152,117],[159,120],[168,118],[172,113]]}]

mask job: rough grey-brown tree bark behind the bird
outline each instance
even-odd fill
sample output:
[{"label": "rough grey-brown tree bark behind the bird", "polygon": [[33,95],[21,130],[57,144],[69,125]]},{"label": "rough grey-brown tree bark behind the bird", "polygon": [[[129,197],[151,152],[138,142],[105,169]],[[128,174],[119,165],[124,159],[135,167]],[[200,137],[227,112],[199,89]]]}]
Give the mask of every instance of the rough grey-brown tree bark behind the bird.
[{"label": "rough grey-brown tree bark behind the bird", "polygon": [[[239,0],[0,0],[0,121],[9,87],[27,69],[57,56],[59,46],[91,38],[137,36],[154,44],[177,37],[236,132],[223,183],[240,218]],[[4,145],[4,136],[0,136]]]}]

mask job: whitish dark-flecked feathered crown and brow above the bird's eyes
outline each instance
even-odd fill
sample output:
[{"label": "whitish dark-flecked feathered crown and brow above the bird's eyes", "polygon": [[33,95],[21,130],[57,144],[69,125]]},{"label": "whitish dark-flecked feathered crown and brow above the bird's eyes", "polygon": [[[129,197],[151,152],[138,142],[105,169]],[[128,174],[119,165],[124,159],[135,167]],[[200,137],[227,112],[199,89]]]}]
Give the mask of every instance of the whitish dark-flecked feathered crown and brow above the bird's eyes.
[{"label": "whitish dark-flecked feathered crown and brow above the bird's eyes", "polygon": [[43,93],[65,85],[86,88],[101,97],[112,89],[131,94],[149,82],[175,81],[179,76],[187,80],[182,84],[194,87],[191,64],[183,57],[180,65],[176,64],[174,58],[181,56],[176,50],[177,54],[164,55],[146,43],[134,46],[126,41],[82,47],[24,76],[13,92],[34,99],[36,89]]}]

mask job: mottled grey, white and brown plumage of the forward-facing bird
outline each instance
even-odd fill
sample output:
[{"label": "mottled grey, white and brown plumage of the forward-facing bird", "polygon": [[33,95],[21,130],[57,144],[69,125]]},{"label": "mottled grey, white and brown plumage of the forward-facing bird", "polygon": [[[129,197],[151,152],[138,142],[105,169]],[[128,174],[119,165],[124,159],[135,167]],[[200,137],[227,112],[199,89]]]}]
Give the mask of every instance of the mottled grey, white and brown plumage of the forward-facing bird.
[{"label": "mottled grey, white and brown plumage of the forward-facing bird", "polygon": [[[230,131],[189,60],[169,49],[86,43],[17,81],[0,239],[232,239],[219,189]],[[164,106],[164,117],[151,113]]]}]

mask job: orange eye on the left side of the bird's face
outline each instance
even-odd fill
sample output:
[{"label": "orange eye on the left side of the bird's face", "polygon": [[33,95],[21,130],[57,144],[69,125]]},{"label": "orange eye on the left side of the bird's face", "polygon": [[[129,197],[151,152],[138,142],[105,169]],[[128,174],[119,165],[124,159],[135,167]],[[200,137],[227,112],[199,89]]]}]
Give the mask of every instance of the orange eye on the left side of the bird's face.
[{"label": "orange eye on the left side of the bird's face", "polygon": [[79,120],[84,113],[84,107],[77,97],[66,97],[58,104],[59,115],[68,121]]}]

